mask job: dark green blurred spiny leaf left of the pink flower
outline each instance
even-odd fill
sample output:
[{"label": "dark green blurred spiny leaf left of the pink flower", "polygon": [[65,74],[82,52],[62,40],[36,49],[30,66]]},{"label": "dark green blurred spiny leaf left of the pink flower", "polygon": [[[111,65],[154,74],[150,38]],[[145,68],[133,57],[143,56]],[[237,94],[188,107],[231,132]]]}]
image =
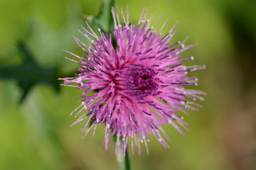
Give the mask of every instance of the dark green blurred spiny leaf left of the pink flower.
[{"label": "dark green blurred spiny leaf left of the pink flower", "polygon": [[37,64],[23,42],[18,42],[18,52],[23,57],[23,62],[16,66],[0,67],[1,79],[15,79],[22,90],[20,102],[22,102],[28,92],[35,84],[46,83],[56,91],[59,91],[57,69],[41,67]]}]

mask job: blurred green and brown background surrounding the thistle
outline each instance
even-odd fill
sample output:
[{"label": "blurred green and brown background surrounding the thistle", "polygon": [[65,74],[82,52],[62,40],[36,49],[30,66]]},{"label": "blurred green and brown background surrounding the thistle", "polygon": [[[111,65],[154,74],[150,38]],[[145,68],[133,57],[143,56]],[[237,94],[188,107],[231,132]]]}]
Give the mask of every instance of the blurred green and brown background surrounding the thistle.
[{"label": "blurred green and brown background surrounding the thistle", "polygon": [[[118,168],[113,142],[108,151],[102,147],[102,126],[85,140],[79,132],[82,123],[70,128],[75,118],[69,114],[78,106],[81,90],[59,88],[47,78],[28,84],[31,74],[24,77],[17,67],[30,60],[22,53],[25,49],[33,57],[30,62],[38,65],[33,71],[43,70],[53,79],[75,72],[78,64],[65,60],[63,49],[82,54],[72,35],[81,37],[77,30],[85,26],[85,15],[97,15],[100,3],[0,0],[0,169]],[[134,23],[143,6],[149,9],[148,16],[155,11],[153,23],[160,13],[161,23],[171,17],[164,31],[179,21],[173,42],[189,36],[187,44],[198,43],[183,52],[183,57],[195,56],[184,64],[207,66],[190,74],[199,78],[197,88],[208,93],[200,102],[201,111],[184,115],[190,131],[181,136],[165,125],[170,149],[151,136],[149,156],[142,147],[142,156],[132,157],[132,168],[256,169],[256,1],[117,0],[115,4],[129,5]],[[17,77],[9,72],[17,72]],[[28,94],[20,103],[24,90]]]}]

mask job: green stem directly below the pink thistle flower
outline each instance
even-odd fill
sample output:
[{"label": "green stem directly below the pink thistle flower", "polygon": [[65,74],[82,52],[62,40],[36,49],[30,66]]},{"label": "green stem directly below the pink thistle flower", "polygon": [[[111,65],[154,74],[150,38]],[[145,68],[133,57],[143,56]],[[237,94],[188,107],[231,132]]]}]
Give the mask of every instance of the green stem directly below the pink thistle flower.
[{"label": "green stem directly below the pink thistle flower", "polygon": [[117,140],[119,140],[119,152],[117,152],[117,162],[119,164],[119,170],[131,170],[130,160],[129,160],[129,153],[127,152],[127,147],[125,150],[125,155],[123,155],[123,147],[122,147],[122,140],[114,135],[114,142],[117,144]]}]

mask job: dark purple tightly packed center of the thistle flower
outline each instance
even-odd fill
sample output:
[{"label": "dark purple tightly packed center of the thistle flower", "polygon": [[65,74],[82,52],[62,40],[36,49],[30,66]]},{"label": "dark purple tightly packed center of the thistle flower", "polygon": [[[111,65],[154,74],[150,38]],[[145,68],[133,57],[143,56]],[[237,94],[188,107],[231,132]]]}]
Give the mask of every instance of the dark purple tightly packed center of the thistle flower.
[{"label": "dark purple tightly packed center of the thistle flower", "polygon": [[150,67],[136,65],[128,70],[128,89],[131,96],[146,97],[158,89],[158,84],[154,79],[156,72]]}]

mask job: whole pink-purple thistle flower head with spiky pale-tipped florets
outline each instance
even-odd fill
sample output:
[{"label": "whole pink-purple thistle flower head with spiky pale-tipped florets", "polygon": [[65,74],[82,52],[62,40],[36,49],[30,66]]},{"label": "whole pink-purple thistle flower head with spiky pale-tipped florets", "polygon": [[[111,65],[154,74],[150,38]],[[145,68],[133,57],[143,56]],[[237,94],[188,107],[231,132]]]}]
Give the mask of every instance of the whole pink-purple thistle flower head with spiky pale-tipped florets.
[{"label": "whole pink-purple thistle flower head with spiky pale-tipped florets", "polygon": [[[66,51],[78,57],[78,61],[68,60],[77,62],[81,67],[75,77],[62,78],[63,85],[85,90],[81,96],[81,105],[73,111],[78,112],[75,117],[83,114],[73,125],[87,119],[80,130],[85,137],[93,127],[95,129],[97,125],[103,124],[105,148],[110,135],[117,135],[116,152],[119,152],[119,146],[125,151],[130,142],[132,154],[134,147],[141,154],[140,142],[144,142],[146,152],[149,153],[147,142],[151,133],[161,145],[169,147],[162,137],[165,135],[168,139],[161,125],[169,123],[182,135],[180,126],[187,130],[183,118],[175,112],[186,113],[189,109],[197,110],[194,106],[201,107],[189,100],[203,100],[200,95],[205,93],[185,89],[183,85],[195,86],[197,78],[187,77],[186,74],[203,69],[204,66],[186,67],[181,64],[184,60],[193,60],[193,57],[181,58],[180,55],[193,45],[184,45],[187,38],[169,44],[175,34],[176,24],[166,35],[161,36],[161,30],[169,19],[161,27],[160,33],[156,33],[149,27],[151,20],[146,20],[145,8],[137,26],[129,23],[128,12],[127,17],[124,17],[121,10],[123,25],[119,20],[118,8],[116,11],[112,8],[112,16],[114,29],[109,35],[100,29],[97,35],[88,23],[88,30],[83,27],[82,31],[78,30],[91,42],[85,45],[74,37],[85,56]],[[96,92],[92,94],[90,91]]]}]

